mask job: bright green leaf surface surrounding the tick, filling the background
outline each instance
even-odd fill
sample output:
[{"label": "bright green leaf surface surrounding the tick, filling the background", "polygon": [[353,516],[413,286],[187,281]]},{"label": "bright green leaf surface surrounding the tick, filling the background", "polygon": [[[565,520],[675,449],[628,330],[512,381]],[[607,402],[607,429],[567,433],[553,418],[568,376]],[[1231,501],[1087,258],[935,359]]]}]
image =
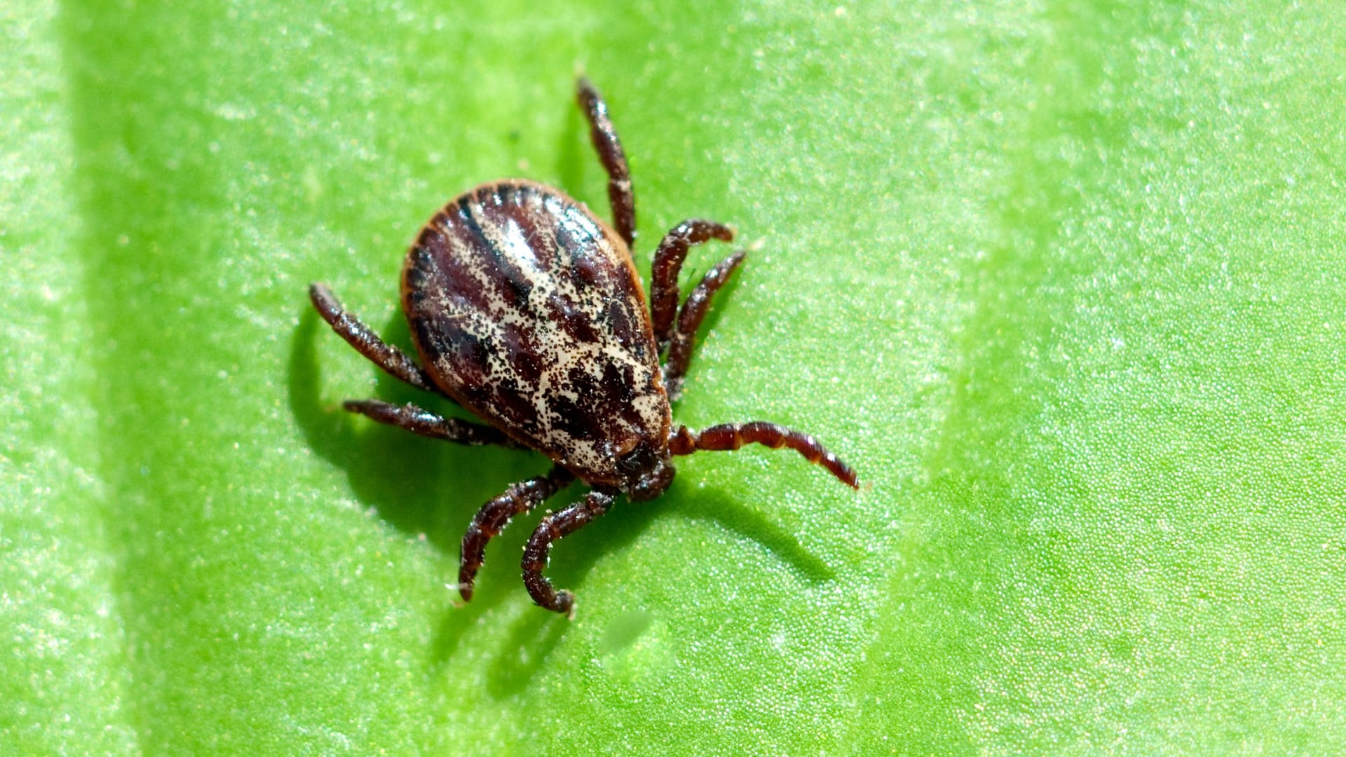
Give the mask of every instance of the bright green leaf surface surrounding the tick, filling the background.
[{"label": "bright green leaf surface surrounding the tick, filling the background", "polygon": [[[1339,750],[1343,18],[0,1],[0,752]],[[349,418],[427,400],[304,290],[405,342],[448,198],[603,207],[580,69],[642,271],[690,216],[763,245],[676,418],[864,488],[701,454],[557,547],[575,621],[536,516],[455,607],[546,465]]]}]

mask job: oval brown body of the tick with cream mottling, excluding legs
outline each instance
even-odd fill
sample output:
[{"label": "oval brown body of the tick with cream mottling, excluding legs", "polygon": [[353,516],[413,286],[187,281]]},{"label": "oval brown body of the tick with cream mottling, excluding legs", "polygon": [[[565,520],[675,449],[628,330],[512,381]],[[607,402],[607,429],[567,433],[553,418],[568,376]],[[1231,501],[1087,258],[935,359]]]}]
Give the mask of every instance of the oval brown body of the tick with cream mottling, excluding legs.
[{"label": "oval brown body of the tick with cream mottling, excluding legs", "polygon": [[446,393],[590,484],[672,424],[626,244],[561,191],[526,180],[460,195],[402,271],[421,364]]}]

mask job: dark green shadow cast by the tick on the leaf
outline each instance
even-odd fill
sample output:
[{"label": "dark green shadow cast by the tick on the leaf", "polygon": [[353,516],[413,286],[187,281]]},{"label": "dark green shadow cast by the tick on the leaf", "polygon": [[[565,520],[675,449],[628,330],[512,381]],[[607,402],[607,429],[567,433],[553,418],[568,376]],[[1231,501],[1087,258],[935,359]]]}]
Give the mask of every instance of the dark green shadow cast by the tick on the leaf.
[{"label": "dark green shadow cast by the tick on the leaf", "polygon": [[[392,333],[389,341],[393,343],[408,341],[400,318],[384,333]],[[351,387],[336,397],[320,397],[319,338],[339,342],[318,315],[306,308],[291,342],[289,411],[310,449],[345,470],[355,498],[366,508],[373,508],[384,523],[412,537],[425,535],[436,550],[452,559],[459,554],[468,521],[482,504],[510,484],[546,470],[546,461],[536,453],[463,447],[425,439],[343,411],[343,399],[374,396],[392,403],[415,401],[433,412],[467,416],[450,403],[406,387],[381,372],[373,392],[367,391],[366,383]],[[373,366],[369,369],[377,370]],[[587,488],[583,484],[572,485],[540,509],[564,508],[583,497],[584,492]],[[775,523],[763,508],[713,490],[684,488],[678,482],[673,484],[664,498],[653,502],[633,504],[621,498],[596,523],[559,541],[552,551],[548,578],[557,587],[577,594],[579,612],[583,614],[587,603],[586,578],[599,558],[627,552],[656,517],[669,513],[709,520],[743,539],[758,541],[789,564],[804,582],[833,579],[833,571],[804,550],[794,533]],[[478,577],[472,602],[444,613],[431,651],[435,663],[443,664],[451,659],[467,629],[474,628],[501,602],[526,598],[520,582],[520,550],[540,517],[540,512],[518,517],[505,535],[493,540],[487,551],[489,566]],[[443,582],[452,585],[458,579],[456,563],[447,564],[452,567]],[[686,568],[678,571],[669,571],[668,581],[677,581],[674,575],[685,577]],[[490,692],[506,696],[525,688],[571,628],[572,621],[530,607],[499,644],[497,660],[489,672]]]}]

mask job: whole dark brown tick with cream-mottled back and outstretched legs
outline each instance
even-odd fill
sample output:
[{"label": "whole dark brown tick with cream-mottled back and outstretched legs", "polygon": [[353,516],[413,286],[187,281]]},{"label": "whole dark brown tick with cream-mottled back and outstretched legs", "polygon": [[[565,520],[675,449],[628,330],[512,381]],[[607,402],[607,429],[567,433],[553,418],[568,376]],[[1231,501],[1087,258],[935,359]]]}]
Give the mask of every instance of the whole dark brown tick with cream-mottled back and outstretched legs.
[{"label": "whole dark brown tick with cream-mottled back and outstretched legs", "polygon": [[380,400],[346,401],[346,409],[423,436],[532,447],[552,458],[549,473],[510,486],[472,517],[458,574],[464,601],[486,543],[576,478],[592,490],[544,517],[524,548],[528,593],[557,613],[573,613],[575,595],[542,577],[552,543],[607,512],[618,494],[660,496],[673,481],[673,455],[748,443],[789,447],[856,486],[855,471],[808,434],[760,422],[700,432],[673,424],[669,401],[681,393],[697,326],[744,252],[711,268],[678,307],[688,246],[734,238],[715,221],[678,224],[654,252],[646,315],[631,261],[635,199],[626,155],[587,79],[577,97],[608,175],[614,226],[560,190],[528,180],[482,185],[450,202],[421,229],[402,268],[402,310],[420,364],[345,311],[323,284],[308,291],[323,319],[361,354],[490,426]]}]

